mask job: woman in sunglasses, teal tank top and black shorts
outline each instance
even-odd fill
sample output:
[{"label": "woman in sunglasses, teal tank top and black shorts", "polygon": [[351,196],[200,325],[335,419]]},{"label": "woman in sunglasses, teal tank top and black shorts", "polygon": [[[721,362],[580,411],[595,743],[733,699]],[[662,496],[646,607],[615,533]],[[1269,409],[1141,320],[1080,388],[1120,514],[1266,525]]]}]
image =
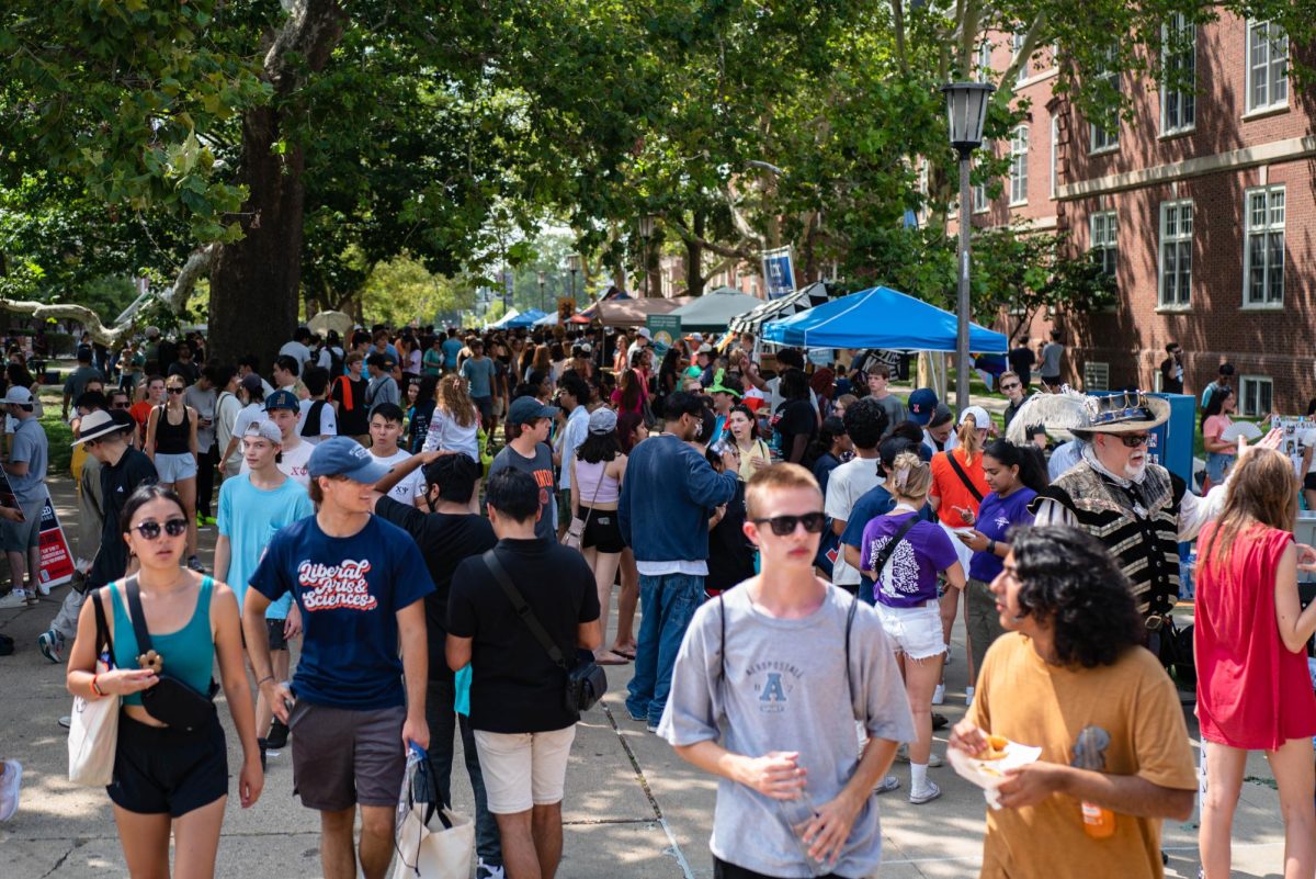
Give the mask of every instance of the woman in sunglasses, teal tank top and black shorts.
[{"label": "woman in sunglasses, teal tank top and black shorts", "polygon": [[[124,541],[139,566],[130,582],[141,596],[151,647],[163,665],[138,659],[126,580],[88,595],[68,658],[68,692],[88,701],[122,697],[114,775],[105,790],[133,878],[168,875],[171,834],[175,875],[213,876],[229,791],[228,747],[217,713],[204,728],[184,732],[162,724],[143,707],[141,693],[159,683],[159,674],[205,693],[218,659],[225,700],[242,740],[242,808],[255,804],[265,786],[237,599],[224,583],[179,567],[192,518],[175,492],[155,484],[133,492],[120,520]],[[96,674],[104,646],[96,634],[96,601],[104,608],[113,645],[112,670],[101,674]]]}]

